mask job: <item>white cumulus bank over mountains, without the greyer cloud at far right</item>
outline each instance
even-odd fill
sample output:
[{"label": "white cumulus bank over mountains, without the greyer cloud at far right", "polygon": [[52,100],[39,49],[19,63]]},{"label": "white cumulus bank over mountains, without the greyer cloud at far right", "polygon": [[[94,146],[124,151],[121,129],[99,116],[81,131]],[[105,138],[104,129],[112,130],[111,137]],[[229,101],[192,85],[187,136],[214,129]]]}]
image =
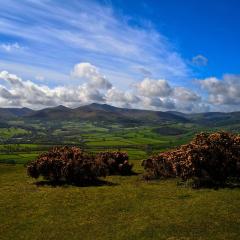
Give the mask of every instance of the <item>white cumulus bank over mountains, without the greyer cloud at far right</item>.
[{"label": "white cumulus bank over mountains, without the greyer cloud at far right", "polygon": [[86,81],[76,86],[50,88],[47,85],[23,80],[15,74],[2,71],[0,79],[3,79],[5,83],[0,85],[0,104],[4,107],[42,108],[59,104],[77,107],[91,102],[106,102],[124,107],[155,110],[179,108],[191,111],[192,103],[200,99],[191,90],[172,87],[166,80],[144,79],[128,91],[122,91],[112,87],[97,67],[89,63],[75,65],[72,75],[83,77]]}]

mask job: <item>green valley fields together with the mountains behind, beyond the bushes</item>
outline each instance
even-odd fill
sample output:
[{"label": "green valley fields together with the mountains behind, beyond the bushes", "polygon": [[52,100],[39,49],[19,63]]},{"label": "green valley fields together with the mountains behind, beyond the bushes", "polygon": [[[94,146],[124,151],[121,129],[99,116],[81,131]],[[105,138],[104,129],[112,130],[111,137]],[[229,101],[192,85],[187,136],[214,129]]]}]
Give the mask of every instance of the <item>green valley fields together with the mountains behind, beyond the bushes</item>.
[{"label": "green valley fields together with the mountains behind, beyond the bushes", "polygon": [[201,131],[240,131],[238,113],[186,115],[106,104],[77,110],[0,109],[0,113],[0,162],[5,163],[26,163],[52,146],[63,145],[92,153],[120,149],[136,160],[187,143]]}]

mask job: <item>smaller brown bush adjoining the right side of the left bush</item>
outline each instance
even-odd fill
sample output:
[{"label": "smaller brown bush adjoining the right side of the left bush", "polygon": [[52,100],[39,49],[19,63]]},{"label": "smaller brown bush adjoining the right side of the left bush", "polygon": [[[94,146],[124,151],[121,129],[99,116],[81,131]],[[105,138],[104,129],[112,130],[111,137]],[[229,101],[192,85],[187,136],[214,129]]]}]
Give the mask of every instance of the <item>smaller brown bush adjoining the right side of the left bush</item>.
[{"label": "smaller brown bush adjoining the right side of the left bush", "polygon": [[96,159],[103,162],[110,175],[130,175],[133,165],[128,161],[128,154],[125,152],[101,152],[96,155]]}]

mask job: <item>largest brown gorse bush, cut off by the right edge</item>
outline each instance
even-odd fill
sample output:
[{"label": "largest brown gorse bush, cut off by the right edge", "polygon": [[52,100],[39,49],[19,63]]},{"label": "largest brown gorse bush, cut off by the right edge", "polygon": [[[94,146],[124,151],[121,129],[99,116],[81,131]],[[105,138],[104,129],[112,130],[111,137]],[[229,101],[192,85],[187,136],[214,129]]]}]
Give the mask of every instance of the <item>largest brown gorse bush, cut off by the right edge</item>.
[{"label": "largest brown gorse bush, cut off by the right edge", "polygon": [[146,179],[181,177],[195,187],[240,179],[240,136],[201,133],[189,144],[143,161]]}]

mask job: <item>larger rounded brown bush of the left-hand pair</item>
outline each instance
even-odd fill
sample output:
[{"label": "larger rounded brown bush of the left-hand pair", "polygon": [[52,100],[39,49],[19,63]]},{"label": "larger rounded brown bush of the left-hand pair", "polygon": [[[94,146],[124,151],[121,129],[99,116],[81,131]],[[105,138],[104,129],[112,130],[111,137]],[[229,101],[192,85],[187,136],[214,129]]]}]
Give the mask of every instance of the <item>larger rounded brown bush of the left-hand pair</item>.
[{"label": "larger rounded brown bush of the left-hand pair", "polygon": [[51,181],[78,183],[106,176],[107,166],[79,148],[62,147],[41,154],[28,164],[27,173],[33,178],[43,176]]}]

